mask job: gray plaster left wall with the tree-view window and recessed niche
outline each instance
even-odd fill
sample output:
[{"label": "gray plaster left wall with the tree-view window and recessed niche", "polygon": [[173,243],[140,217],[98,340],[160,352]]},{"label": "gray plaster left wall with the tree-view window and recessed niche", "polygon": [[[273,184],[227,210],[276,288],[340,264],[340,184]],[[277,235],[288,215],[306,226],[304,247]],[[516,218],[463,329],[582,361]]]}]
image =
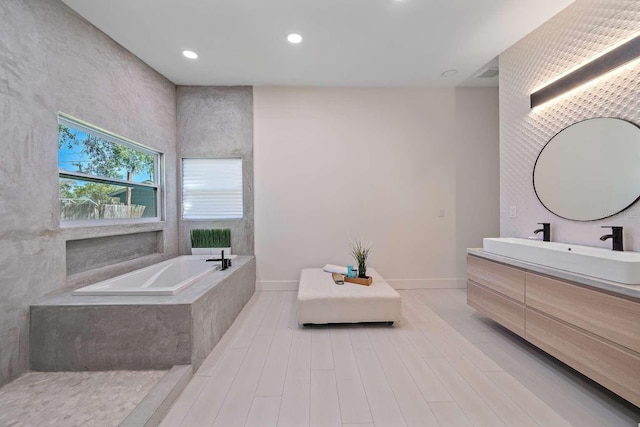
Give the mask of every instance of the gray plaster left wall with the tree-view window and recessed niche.
[{"label": "gray plaster left wall with the tree-view window and recessed niche", "polygon": [[[67,240],[161,231],[159,256],[176,254],[178,202],[171,82],[58,0],[0,0],[0,28],[2,385],[27,369],[29,304],[78,283],[66,276]],[[165,153],[165,222],[61,229],[58,111]],[[126,265],[151,261],[147,256]],[[116,270],[84,272],[81,282]]]}]

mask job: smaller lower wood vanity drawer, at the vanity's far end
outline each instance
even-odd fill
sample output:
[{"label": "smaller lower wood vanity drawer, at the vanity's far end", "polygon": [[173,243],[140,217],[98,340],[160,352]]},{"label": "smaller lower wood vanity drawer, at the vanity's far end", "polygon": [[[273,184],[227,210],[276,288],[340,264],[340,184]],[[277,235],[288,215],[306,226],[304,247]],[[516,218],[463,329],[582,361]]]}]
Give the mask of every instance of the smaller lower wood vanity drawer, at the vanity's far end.
[{"label": "smaller lower wood vanity drawer, at the vanity's far end", "polygon": [[524,306],[482,285],[467,281],[467,304],[524,337]]}]

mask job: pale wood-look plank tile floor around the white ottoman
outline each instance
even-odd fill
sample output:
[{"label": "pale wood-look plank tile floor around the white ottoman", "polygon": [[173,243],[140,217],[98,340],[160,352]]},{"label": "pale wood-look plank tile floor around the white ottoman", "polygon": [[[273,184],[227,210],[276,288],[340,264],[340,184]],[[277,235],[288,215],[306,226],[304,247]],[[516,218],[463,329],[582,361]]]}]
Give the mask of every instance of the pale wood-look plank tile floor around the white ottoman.
[{"label": "pale wood-look plank tile floor around the white ottoman", "polygon": [[176,426],[638,426],[617,398],[466,305],[402,291],[394,327],[300,328],[257,292],[165,417]]}]

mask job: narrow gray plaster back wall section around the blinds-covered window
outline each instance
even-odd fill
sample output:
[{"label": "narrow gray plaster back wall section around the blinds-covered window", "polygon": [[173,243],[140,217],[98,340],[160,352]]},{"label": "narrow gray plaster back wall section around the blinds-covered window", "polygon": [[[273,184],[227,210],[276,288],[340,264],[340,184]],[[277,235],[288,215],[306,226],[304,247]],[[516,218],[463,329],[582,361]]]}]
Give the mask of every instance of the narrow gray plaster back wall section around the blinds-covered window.
[{"label": "narrow gray plaster back wall section around the blinds-covered window", "polygon": [[[253,89],[179,86],[177,111],[178,163],[184,157],[241,157],[244,187],[244,218],[180,220],[180,253],[191,253],[192,228],[230,228],[232,252],[253,255]],[[178,199],[179,217],[181,209]]]}]

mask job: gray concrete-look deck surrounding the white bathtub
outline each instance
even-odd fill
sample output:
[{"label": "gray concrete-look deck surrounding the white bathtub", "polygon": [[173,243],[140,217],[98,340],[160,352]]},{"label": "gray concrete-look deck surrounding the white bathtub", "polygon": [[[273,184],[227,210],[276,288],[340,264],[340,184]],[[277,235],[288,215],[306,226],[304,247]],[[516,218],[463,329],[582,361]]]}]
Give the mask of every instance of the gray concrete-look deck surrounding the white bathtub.
[{"label": "gray concrete-look deck surrounding the white bathtub", "polygon": [[255,258],[234,261],[172,296],[68,292],[32,305],[31,369],[197,369],[255,292]]}]

